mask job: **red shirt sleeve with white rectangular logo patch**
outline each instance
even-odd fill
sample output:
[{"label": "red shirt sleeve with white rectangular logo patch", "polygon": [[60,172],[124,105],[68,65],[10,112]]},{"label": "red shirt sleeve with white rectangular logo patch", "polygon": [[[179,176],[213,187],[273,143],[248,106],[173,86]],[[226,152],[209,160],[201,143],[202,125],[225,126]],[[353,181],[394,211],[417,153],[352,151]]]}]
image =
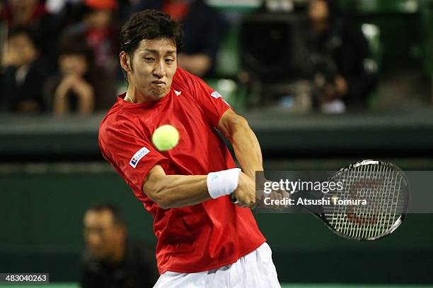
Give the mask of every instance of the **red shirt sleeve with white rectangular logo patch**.
[{"label": "red shirt sleeve with white rectangular logo patch", "polygon": [[144,179],[156,164],[167,171],[168,159],[155,150],[149,140],[137,131],[132,123],[118,121],[101,124],[99,146],[108,162],[134,190],[142,191]]}]

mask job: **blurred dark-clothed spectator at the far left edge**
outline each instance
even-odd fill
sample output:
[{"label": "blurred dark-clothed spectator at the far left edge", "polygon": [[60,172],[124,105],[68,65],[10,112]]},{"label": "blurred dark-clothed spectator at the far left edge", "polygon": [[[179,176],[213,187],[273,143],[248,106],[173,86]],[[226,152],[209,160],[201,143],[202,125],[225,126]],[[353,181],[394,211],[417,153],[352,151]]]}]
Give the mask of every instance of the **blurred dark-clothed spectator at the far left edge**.
[{"label": "blurred dark-clothed spectator at the far left edge", "polygon": [[42,88],[47,75],[37,38],[28,28],[14,28],[8,34],[1,66],[1,108],[6,112],[42,112]]}]

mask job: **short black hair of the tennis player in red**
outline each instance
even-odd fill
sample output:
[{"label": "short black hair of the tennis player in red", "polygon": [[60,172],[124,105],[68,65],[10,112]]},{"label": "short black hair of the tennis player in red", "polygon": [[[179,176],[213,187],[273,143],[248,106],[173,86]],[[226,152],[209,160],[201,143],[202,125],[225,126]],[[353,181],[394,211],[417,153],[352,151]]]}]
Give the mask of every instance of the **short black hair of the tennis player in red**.
[{"label": "short black hair of the tennis player in red", "polygon": [[173,40],[176,51],[182,49],[183,32],[180,24],[168,14],[156,10],[134,13],[120,30],[120,51],[132,58],[140,41],[168,38]]}]

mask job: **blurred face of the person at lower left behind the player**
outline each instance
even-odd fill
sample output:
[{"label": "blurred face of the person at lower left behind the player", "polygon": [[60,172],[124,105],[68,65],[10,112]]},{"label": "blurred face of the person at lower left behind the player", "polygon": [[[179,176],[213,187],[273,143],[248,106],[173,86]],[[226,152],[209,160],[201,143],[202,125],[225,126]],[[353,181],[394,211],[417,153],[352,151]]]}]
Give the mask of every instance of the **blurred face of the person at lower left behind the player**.
[{"label": "blurred face of the person at lower left behind the player", "polygon": [[95,258],[109,260],[125,241],[125,230],[113,224],[110,211],[88,211],[84,215],[84,239]]}]

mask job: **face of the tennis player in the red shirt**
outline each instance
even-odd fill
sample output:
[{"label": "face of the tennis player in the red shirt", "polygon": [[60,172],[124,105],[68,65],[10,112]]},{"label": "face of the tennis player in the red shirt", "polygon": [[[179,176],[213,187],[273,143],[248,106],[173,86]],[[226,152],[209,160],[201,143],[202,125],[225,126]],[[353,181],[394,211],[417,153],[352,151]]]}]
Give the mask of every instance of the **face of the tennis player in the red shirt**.
[{"label": "face of the tennis player in the red shirt", "polygon": [[142,40],[129,59],[129,85],[147,102],[163,98],[170,90],[178,66],[173,40]]}]

